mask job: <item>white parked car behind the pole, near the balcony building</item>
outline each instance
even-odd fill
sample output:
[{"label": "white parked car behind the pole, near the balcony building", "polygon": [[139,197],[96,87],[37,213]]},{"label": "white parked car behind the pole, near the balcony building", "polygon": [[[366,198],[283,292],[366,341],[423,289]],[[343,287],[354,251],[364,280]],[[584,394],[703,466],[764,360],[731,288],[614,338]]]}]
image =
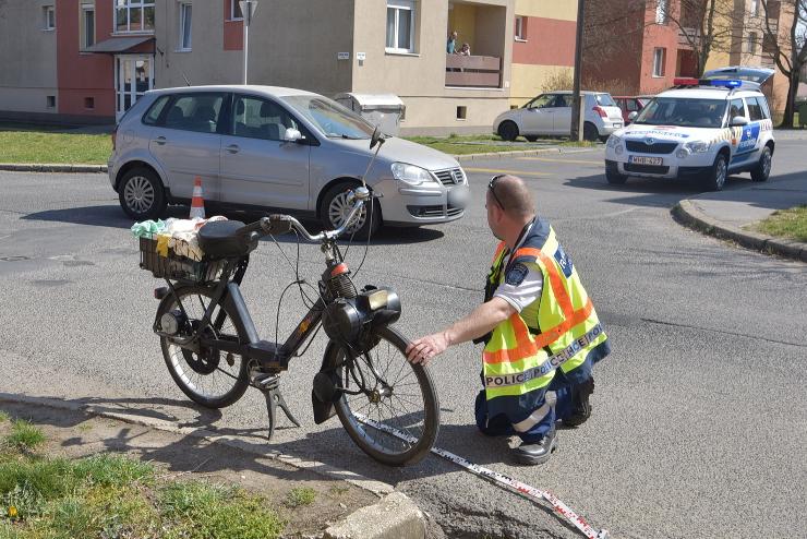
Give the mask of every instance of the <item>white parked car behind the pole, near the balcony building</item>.
[{"label": "white parked car behind the pole, near the balcony building", "polygon": [[[605,141],[611,133],[624,125],[622,110],[611,94],[582,92],[583,137],[587,141]],[[531,99],[521,108],[502,112],[493,122],[493,132],[505,141],[522,135],[532,142],[539,135],[569,136],[571,134],[571,92],[549,92]]]}]

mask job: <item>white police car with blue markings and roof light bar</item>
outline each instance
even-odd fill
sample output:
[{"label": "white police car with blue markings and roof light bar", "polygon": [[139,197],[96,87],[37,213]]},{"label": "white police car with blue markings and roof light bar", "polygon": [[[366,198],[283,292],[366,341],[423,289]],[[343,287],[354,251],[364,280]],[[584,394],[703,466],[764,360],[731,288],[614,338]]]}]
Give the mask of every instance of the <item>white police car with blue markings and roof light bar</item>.
[{"label": "white police car with blue markings and roof light bar", "polygon": [[760,83],[675,79],[673,84],[609,137],[609,183],[625,183],[629,176],[690,178],[719,191],[730,173],[768,180],[773,122]]}]

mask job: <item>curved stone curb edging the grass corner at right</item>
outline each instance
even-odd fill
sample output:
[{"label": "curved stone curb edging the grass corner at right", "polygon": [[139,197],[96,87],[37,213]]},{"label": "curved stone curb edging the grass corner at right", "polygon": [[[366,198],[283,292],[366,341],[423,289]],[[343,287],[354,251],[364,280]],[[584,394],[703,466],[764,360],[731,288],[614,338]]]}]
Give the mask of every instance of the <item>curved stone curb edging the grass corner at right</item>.
[{"label": "curved stone curb edging the grass corner at right", "polygon": [[807,243],[783,240],[727,225],[701,212],[690,200],[678,202],[673,207],[672,214],[684,226],[709,236],[732,240],[755,251],[807,262]]}]

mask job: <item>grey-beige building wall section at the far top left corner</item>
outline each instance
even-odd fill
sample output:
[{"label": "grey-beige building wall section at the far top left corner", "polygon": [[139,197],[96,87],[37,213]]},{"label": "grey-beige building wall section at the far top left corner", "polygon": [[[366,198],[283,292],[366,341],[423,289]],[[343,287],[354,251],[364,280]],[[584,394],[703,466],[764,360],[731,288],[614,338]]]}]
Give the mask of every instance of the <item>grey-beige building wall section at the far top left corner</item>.
[{"label": "grey-beige building wall section at the far top left corner", "polygon": [[[57,112],[57,32],[44,29],[43,15],[43,8],[53,4],[53,0],[0,3],[0,111]],[[48,96],[55,97],[57,107],[47,106]]]}]

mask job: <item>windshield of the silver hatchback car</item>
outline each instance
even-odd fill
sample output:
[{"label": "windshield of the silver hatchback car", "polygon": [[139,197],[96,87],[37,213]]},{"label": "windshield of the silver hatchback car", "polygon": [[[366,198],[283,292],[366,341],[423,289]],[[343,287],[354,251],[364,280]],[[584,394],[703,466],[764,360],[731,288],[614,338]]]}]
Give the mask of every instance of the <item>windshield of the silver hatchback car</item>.
[{"label": "windshield of the silver hatchback car", "polygon": [[327,97],[292,95],[280,99],[329,139],[370,139],[375,129],[361,116]]}]

